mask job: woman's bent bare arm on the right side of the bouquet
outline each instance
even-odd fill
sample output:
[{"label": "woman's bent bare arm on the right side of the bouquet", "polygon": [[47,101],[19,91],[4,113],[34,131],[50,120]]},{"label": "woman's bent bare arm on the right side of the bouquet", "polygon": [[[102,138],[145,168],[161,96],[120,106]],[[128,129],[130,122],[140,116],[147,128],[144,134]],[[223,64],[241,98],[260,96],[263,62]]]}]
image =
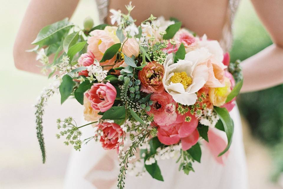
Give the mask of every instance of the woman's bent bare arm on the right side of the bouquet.
[{"label": "woman's bent bare arm on the right side of the bouquet", "polygon": [[241,92],[283,83],[283,1],[252,0],[252,3],[274,44],[242,62],[244,83]]}]

